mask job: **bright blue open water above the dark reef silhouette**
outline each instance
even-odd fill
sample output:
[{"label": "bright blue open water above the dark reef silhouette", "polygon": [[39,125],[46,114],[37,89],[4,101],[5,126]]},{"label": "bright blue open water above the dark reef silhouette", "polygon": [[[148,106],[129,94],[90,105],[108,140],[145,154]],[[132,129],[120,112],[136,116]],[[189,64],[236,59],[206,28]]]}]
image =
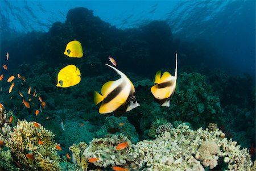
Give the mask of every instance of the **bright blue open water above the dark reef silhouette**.
[{"label": "bright blue open water above the dark reef silhouette", "polygon": [[[255,1],[2,1],[1,31],[48,31],[73,7],[117,28],[166,20],[179,39],[207,40],[217,67],[255,77]],[[54,4],[54,5],[53,5]],[[4,35],[2,35],[4,36]],[[200,62],[200,61],[199,61]],[[207,66],[210,64],[207,64]]]}]

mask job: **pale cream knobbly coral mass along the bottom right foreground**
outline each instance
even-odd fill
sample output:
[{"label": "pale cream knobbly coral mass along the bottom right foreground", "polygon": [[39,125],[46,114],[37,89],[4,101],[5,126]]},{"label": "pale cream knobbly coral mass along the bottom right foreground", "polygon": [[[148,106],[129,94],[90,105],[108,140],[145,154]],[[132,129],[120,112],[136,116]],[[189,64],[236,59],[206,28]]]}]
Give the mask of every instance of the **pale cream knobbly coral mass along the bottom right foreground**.
[{"label": "pale cream knobbly coral mass along the bottom right foreground", "polygon": [[[136,145],[122,135],[93,139],[85,149],[86,159],[97,157],[96,166],[122,166],[129,170],[205,170],[226,163],[228,170],[250,170],[252,162],[247,149],[236,141],[221,137],[220,130],[189,129],[185,123]],[[117,151],[118,143],[127,141],[127,149]],[[222,160],[222,162],[220,162]],[[225,166],[223,166],[225,167]]]}]

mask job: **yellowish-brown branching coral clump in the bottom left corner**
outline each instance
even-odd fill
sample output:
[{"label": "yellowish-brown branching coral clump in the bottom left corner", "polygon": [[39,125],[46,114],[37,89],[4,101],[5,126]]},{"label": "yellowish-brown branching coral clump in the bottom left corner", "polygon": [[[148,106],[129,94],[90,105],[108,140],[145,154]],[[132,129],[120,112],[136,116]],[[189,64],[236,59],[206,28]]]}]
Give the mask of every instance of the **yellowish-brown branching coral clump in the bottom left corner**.
[{"label": "yellowish-brown branching coral clump in the bottom left corner", "polygon": [[55,171],[61,168],[53,136],[39,123],[18,120],[5,143],[22,169]]}]

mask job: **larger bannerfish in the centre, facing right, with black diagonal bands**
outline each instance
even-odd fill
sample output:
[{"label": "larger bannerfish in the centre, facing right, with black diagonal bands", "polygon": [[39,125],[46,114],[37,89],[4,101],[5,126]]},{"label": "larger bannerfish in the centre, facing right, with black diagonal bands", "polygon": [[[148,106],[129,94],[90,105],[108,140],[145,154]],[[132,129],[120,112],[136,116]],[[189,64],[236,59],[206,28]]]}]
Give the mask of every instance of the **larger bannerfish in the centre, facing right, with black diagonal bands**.
[{"label": "larger bannerfish in the centre, facing right, with black diagonal bands", "polygon": [[[108,65],[108,64],[105,64]],[[139,104],[135,98],[133,83],[120,70],[113,68],[120,76],[118,80],[106,82],[101,87],[101,94],[94,91],[94,104],[101,103],[100,114],[108,114],[113,111],[130,111]]]}]

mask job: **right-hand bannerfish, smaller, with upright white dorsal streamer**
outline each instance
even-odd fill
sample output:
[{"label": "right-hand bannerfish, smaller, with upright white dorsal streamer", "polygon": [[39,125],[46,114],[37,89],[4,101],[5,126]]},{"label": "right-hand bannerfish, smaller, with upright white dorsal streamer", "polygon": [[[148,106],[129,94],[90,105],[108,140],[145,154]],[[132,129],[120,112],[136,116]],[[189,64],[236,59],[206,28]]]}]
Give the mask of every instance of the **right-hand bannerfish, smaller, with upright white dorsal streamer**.
[{"label": "right-hand bannerfish, smaller, with upright white dorsal streamer", "polygon": [[155,85],[151,87],[151,93],[154,95],[155,101],[158,102],[161,106],[170,107],[170,100],[176,89],[177,53],[175,56],[176,66],[174,76],[168,72],[164,72],[161,76],[161,71],[159,70],[155,74]]}]

